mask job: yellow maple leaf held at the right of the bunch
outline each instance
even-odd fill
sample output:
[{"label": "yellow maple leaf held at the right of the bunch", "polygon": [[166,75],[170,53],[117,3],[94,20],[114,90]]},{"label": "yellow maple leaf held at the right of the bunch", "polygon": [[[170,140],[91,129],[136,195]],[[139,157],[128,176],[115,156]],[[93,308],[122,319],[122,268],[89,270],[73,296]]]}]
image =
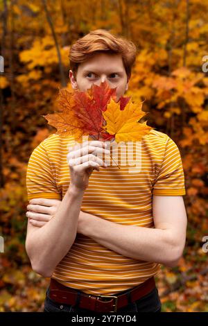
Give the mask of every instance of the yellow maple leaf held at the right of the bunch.
[{"label": "yellow maple leaf held at the right of the bunch", "polygon": [[115,135],[118,141],[140,141],[144,135],[147,135],[151,129],[150,126],[138,122],[146,115],[141,111],[142,103],[132,103],[129,101],[124,110],[120,110],[119,103],[112,98],[107,105],[105,112],[102,112],[106,125],[103,129],[107,130],[110,135]]}]

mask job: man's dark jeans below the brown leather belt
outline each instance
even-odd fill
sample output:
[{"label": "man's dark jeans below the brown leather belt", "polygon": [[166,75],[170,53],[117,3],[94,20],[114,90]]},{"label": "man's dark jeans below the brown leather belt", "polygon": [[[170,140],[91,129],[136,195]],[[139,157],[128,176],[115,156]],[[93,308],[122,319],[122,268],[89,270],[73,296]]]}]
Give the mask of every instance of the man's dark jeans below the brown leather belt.
[{"label": "man's dark jeans below the brown leather belt", "polygon": [[[123,291],[122,293],[127,292]],[[121,294],[121,293],[120,293]],[[157,287],[150,291],[147,295],[140,298],[139,300],[128,304],[127,306],[117,310],[117,314],[125,314],[128,312],[161,312],[162,304],[159,300]],[[49,298],[49,288],[46,290],[46,299],[44,301],[44,312],[72,312],[72,313],[87,313],[96,315],[99,314],[97,311],[89,309],[80,309],[72,307],[71,304],[61,304],[55,302]],[[101,314],[101,313],[100,313]],[[112,313],[111,313],[112,314]]]}]

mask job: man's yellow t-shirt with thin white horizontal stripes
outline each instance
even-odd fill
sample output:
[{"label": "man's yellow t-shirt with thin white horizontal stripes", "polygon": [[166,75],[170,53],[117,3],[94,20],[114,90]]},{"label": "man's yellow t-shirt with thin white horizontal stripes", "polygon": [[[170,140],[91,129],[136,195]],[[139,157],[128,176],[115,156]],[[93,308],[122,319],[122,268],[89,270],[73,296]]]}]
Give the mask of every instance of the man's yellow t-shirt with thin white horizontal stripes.
[{"label": "man's yellow t-shirt with thin white horizontal stripes", "polygon": [[[34,149],[26,174],[28,200],[62,200],[70,183],[68,147],[74,144],[71,136],[53,134]],[[120,169],[111,162],[107,168],[92,172],[81,210],[114,223],[154,228],[153,194],[186,194],[180,151],[168,135],[157,130],[150,130],[132,147],[117,149],[120,161],[116,161],[115,156],[114,162]],[[127,160],[128,153],[133,153],[130,160]],[[145,282],[156,275],[160,267],[157,263],[124,257],[77,234],[73,246],[51,277],[88,294],[113,295]]]}]

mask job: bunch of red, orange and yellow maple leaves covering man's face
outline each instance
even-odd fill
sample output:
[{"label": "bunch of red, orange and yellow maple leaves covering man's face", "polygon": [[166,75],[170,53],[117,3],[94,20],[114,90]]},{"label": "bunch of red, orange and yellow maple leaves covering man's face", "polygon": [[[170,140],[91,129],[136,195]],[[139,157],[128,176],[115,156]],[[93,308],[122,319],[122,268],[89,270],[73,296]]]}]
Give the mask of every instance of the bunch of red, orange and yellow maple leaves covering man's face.
[{"label": "bunch of red, orange and yellow maple leaves covering man's face", "polygon": [[42,117],[57,129],[56,134],[71,135],[78,142],[86,135],[101,141],[140,141],[153,129],[146,121],[139,122],[146,115],[141,107],[130,97],[121,96],[116,102],[116,88],[104,81],[86,92],[59,89],[59,112]]}]

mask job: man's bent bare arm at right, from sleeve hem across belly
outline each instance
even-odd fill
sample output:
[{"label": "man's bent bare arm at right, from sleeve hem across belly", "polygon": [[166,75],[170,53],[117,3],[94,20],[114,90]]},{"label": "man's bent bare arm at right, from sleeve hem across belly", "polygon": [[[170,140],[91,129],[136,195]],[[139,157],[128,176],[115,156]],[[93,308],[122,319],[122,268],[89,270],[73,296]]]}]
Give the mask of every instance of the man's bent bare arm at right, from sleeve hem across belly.
[{"label": "man's bent bare arm at right, from sleeve hem across belly", "polygon": [[182,196],[153,195],[154,228],[121,225],[80,212],[78,232],[106,248],[143,261],[173,267],[182,256],[187,214]]}]

